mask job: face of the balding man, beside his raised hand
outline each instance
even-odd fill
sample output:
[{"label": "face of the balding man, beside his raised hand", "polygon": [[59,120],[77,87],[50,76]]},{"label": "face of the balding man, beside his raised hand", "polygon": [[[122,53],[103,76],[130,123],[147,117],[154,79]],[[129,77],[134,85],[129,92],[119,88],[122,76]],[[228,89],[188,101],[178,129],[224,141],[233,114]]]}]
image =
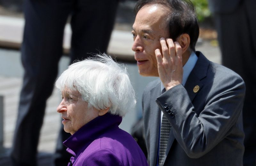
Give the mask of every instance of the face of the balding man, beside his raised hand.
[{"label": "face of the balding man, beside his raised hand", "polygon": [[142,76],[159,76],[155,50],[162,50],[159,40],[169,36],[167,14],[166,7],[149,4],[143,6],[136,15],[132,26],[132,51],[135,52],[135,60]]}]

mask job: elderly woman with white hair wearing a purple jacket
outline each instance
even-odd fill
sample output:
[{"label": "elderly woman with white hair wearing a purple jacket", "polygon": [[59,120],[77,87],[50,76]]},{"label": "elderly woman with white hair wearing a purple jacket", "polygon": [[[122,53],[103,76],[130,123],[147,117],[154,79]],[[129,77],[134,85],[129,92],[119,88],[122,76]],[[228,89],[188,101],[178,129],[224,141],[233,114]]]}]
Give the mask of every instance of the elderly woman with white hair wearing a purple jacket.
[{"label": "elderly woman with white hair wearing a purple jacket", "polygon": [[55,84],[62,94],[57,112],[71,134],[63,142],[74,156],[68,165],[148,165],[136,141],[118,127],[136,104],[126,68],[107,55],[96,57],[70,65]]}]

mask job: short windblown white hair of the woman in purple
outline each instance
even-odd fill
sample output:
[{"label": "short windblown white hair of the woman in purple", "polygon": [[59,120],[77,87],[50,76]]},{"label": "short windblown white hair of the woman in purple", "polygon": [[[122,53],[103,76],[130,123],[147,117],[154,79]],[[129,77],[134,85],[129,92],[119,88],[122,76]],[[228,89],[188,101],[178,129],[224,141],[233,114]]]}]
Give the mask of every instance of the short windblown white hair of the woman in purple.
[{"label": "short windblown white hair of the woman in purple", "polygon": [[64,91],[78,91],[88,107],[107,109],[124,116],[135,104],[135,93],[124,64],[106,54],[73,63],[57,79],[55,86]]}]

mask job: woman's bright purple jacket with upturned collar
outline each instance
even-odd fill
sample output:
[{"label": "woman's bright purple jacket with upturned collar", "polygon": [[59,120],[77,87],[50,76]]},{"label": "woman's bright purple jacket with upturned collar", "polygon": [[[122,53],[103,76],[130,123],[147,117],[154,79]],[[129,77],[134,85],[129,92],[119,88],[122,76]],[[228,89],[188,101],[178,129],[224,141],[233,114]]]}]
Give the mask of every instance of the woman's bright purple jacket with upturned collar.
[{"label": "woman's bright purple jacket with upturned collar", "polygon": [[[122,117],[109,113],[85,124],[63,142],[74,157],[73,166],[148,165],[137,142],[118,125]],[[68,164],[68,165],[72,165]]]}]

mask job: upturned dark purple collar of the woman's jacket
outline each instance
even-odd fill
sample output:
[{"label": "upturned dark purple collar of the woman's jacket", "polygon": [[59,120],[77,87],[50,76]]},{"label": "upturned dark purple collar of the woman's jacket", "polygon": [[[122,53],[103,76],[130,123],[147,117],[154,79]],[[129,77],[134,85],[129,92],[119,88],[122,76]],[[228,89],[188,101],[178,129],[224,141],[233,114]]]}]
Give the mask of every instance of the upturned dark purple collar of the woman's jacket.
[{"label": "upturned dark purple collar of the woman's jacket", "polygon": [[105,114],[98,116],[77,130],[72,136],[63,142],[68,147],[67,151],[74,155],[80,154],[92,141],[105,133],[107,130],[118,129],[122,122],[119,115]]}]

